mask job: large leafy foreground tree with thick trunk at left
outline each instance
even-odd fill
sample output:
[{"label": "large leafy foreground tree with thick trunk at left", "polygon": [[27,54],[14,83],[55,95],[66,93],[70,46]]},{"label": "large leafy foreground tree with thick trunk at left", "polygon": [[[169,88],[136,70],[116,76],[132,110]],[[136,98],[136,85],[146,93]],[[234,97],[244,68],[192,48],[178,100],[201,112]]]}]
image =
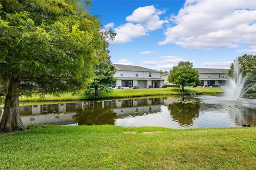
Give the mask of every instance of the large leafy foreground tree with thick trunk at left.
[{"label": "large leafy foreground tree with thick trunk at left", "polygon": [[84,89],[108,53],[106,32],[77,0],[0,1],[0,131],[23,130],[19,96]]}]

